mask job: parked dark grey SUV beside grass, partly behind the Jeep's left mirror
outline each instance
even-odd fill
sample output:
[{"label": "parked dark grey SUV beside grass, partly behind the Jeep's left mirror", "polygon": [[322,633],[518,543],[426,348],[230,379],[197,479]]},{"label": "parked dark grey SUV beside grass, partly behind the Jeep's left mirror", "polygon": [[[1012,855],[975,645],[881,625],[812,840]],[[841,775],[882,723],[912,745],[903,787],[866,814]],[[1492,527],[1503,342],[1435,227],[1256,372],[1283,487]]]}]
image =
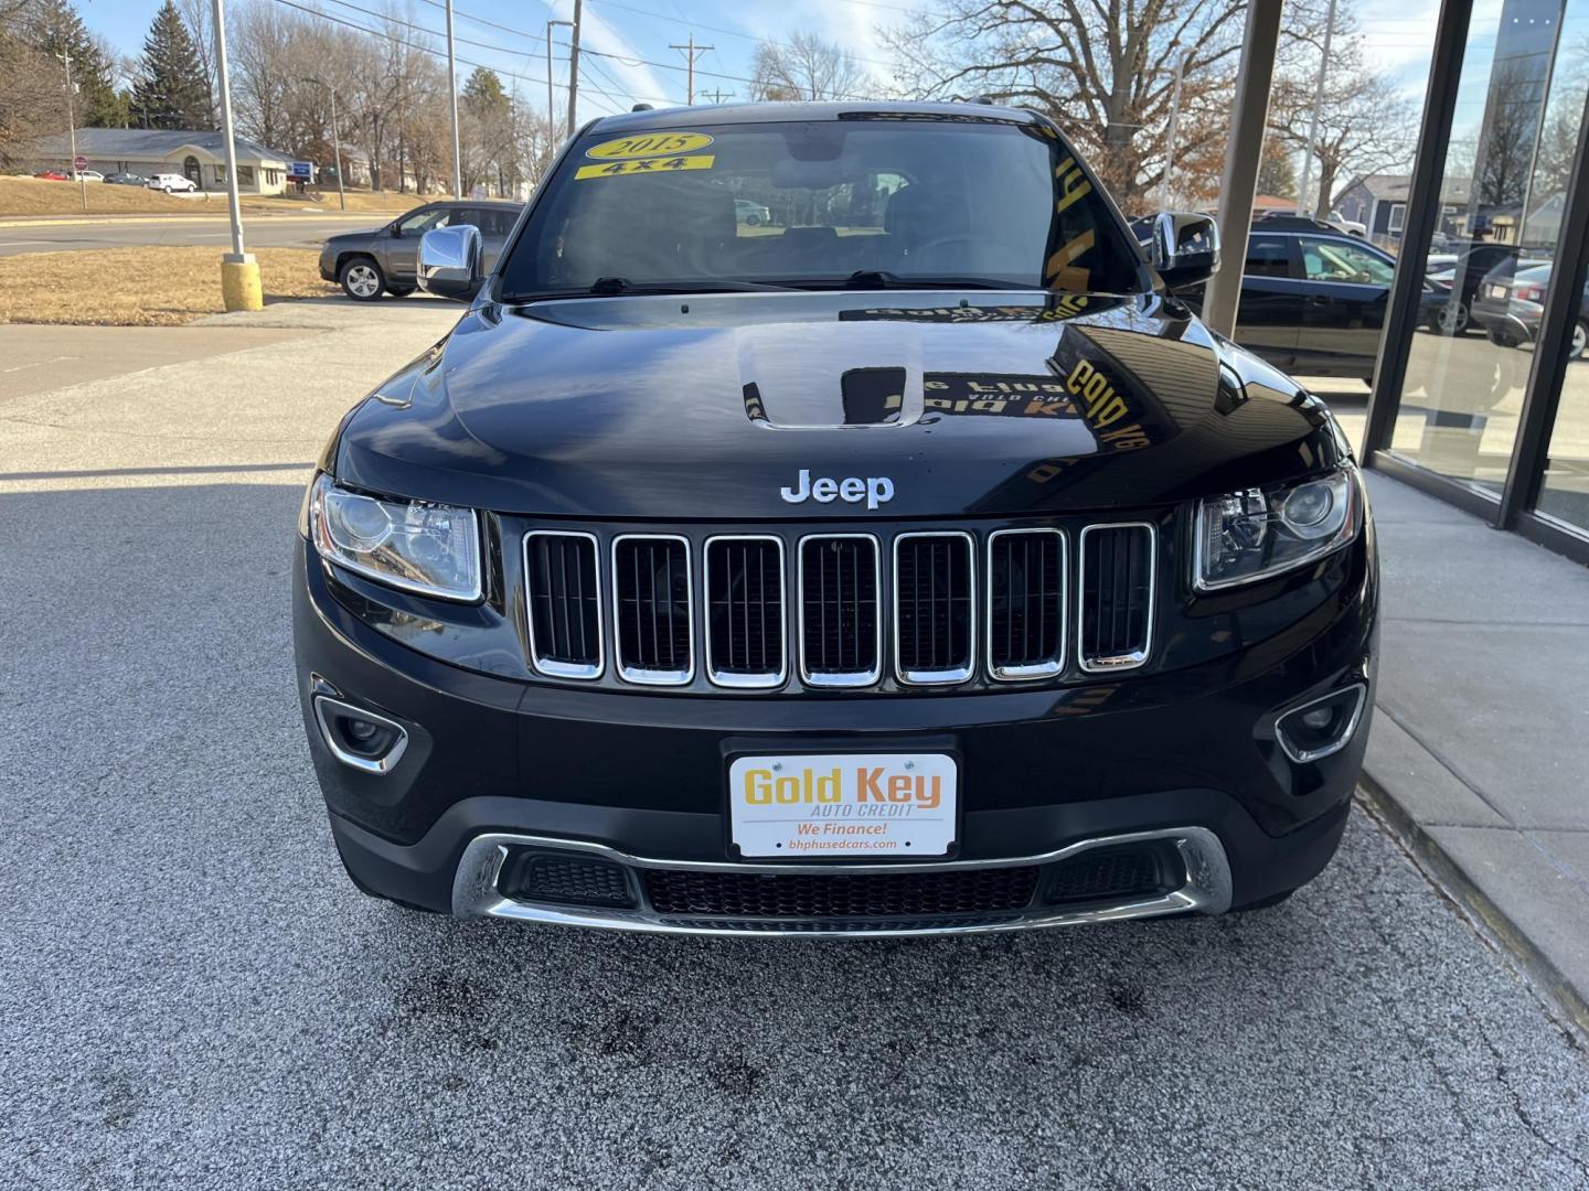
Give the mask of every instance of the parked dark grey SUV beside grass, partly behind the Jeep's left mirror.
[{"label": "parked dark grey SUV beside grass, partly behind the Jeep's left mirror", "polygon": [[319,251],[319,275],[356,302],[373,302],[383,292],[407,297],[415,289],[419,237],[437,227],[478,227],[489,268],[523,210],[523,203],[491,198],[426,203],[373,232],[329,237]]}]

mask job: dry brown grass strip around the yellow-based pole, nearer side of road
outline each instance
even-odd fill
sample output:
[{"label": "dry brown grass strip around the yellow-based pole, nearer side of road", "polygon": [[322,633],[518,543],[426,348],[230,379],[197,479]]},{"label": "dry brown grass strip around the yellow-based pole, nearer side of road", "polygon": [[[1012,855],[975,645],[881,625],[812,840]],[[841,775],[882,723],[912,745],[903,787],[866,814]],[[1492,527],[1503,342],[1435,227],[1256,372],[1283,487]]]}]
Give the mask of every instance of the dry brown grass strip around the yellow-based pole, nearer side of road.
[{"label": "dry brown grass strip around the yellow-based pole, nearer side of road", "polygon": [[[323,297],[310,248],[257,248],[265,302]],[[67,322],[99,327],[175,327],[219,314],[221,251],[216,248],[110,248],[0,257],[0,322]]]}]

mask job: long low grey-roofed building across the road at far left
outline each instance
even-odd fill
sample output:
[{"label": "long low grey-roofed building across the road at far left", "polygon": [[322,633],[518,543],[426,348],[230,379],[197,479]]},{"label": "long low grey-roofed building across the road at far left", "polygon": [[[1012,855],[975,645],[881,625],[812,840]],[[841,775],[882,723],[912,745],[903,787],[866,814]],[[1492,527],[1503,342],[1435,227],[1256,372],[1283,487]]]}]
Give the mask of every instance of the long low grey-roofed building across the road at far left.
[{"label": "long low grey-roofed building across the road at far left", "polygon": [[[44,137],[33,149],[41,165],[70,167],[72,140]],[[226,138],[219,132],[188,129],[78,129],[78,156],[100,173],[180,173],[200,191],[226,189]],[[292,157],[237,138],[237,189],[243,194],[281,194]]]}]

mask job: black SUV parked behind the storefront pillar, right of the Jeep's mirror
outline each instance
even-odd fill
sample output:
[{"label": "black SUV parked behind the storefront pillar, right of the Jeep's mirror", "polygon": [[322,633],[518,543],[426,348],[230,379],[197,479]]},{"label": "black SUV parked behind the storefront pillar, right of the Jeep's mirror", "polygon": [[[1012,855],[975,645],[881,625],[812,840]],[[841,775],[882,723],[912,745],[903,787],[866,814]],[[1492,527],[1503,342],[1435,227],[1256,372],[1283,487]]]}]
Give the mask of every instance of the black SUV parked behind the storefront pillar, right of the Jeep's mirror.
[{"label": "black SUV parked behind the storefront pillar, right of the Jeep's mirror", "polygon": [[[1360,237],[1311,219],[1262,219],[1247,237],[1236,341],[1303,376],[1373,380],[1394,275],[1395,257]],[[1438,326],[1449,294],[1425,278],[1421,326]],[[1201,308],[1201,287],[1184,297]]]}]

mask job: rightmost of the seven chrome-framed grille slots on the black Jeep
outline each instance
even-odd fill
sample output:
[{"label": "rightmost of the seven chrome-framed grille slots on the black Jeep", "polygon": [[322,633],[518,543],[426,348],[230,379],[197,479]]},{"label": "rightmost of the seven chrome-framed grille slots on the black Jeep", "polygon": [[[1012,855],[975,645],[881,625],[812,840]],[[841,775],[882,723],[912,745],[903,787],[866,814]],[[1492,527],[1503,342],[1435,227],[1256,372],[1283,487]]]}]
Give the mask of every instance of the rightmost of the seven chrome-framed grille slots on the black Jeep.
[{"label": "rightmost of the seven chrome-framed grille slots on the black Jeep", "polygon": [[1146,521],[1087,526],[1081,534],[1076,654],[1082,670],[1135,670],[1154,643],[1157,532]]}]

